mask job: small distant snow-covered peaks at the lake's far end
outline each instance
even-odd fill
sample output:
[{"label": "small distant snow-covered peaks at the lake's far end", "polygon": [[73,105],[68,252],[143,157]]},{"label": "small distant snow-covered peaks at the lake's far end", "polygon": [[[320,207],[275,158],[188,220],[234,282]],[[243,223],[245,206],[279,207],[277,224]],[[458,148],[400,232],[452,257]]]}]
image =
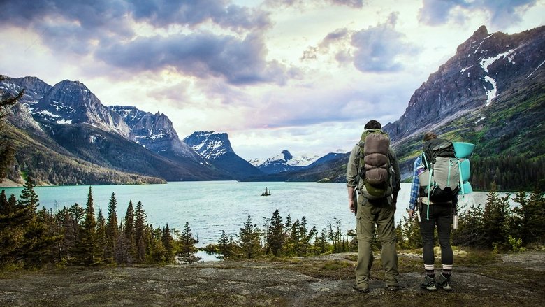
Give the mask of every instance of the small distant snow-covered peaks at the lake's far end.
[{"label": "small distant snow-covered peaks at the lake's far end", "polygon": [[[278,155],[274,155],[265,160],[265,162],[258,164],[257,168],[264,173],[281,173],[284,171],[294,171],[296,169],[302,169],[309,166],[313,162],[317,161],[319,157],[314,155],[302,155],[300,157],[293,157],[288,150],[282,150]],[[252,164],[259,163],[259,160],[252,160]]]}]

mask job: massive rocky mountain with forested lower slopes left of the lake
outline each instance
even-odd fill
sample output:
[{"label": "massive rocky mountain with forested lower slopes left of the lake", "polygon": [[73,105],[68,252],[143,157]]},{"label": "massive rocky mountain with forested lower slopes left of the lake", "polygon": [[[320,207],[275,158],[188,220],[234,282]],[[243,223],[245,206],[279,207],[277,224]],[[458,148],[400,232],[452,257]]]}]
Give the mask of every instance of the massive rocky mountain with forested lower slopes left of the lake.
[{"label": "massive rocky mountain with forested lower slopes left of the lake", "polygon": [[[52,87],[24,77],[0,83],[0,94],[23,89],[7,118],[13,128],[6,133],[20,140],[13,174],[29,172],[57,185],[231,179],[182,143],[166,115],[132,108],[122,117],[78,81]],[[10,179],[19,182],[17,176]]]}]

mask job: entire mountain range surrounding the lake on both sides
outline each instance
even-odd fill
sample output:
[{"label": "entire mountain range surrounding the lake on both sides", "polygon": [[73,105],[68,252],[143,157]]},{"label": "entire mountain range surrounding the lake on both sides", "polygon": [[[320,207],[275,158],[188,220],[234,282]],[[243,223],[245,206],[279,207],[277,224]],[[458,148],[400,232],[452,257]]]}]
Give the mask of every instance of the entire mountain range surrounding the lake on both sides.
[{"label": "entire mountain range surrounding the lake on both sides", "polygon": [[[499,176],[485,169],[488,162],[499,164],[507,155],[539,168],[545,156],[544,64],[545,27],[511,35],[479,27],[415,90],[405,113],[384,125],[402,178],[412,175],[424,131],[477,144],[472,173],[483,178],[478,187]],[[0,83],[2,92],[22,89],[24,97],[6,125],[17,149],[9,175],[16,182],[26,173],[43,184],[345,180],[347,153],[293,157],[283,150],[264,162],[248,162],[235,154],[227,134],[198,131],[180,140],[166,115],[103,106],[78,81],[51,86],[24,77]],[[530,173],[530,180],[545,178]]]}]

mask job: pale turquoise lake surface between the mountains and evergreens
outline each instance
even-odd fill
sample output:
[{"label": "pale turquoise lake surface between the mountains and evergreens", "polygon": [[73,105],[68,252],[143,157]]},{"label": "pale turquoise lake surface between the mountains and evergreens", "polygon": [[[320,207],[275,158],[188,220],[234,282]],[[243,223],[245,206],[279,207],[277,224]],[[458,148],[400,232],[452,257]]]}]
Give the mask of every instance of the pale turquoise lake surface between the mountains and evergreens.
[{"label": "pale turquoise lake surface between the mountains and evergreens", "polygon": [[[136,207],[142,201],[148,224],[161,228],[182,230],[189,222],[191,232],[199,239],[199,246],[217,243],[221,231],[238,234],[247,216],[263,229],[264,217],[270,218],[278,209],[285,222],[301,220],[305,216],[308,229],[316,226],[318,231],[335,225],[340,220],[343,234],[355,229],[354,214],[348,209],[347,187],[344,183],[240,183],[236,181],[173,182],[166,185],[92,185],[95,213],[102,209],[107,218],[108,202],[115,192],[117,218],[126,213],[129,201]],[[265,187],[271,195],[262,197]],[[410,183],[402,183],[398,197],[395,222],[407,216]],[[8,197],[20,196],[22,187],[0,188]],[[35,187],[40,208],[56,210],[74,203],[85,208],[89,186]],[[474,204],[486,202],[486,192],[474,192],[466,201]]]}]

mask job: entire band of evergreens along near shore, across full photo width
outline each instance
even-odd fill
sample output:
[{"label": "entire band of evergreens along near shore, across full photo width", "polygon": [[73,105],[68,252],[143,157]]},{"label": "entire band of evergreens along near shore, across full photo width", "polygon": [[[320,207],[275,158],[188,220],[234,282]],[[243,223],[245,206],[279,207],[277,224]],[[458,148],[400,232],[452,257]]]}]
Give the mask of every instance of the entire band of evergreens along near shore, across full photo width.
[{"label": "entire band of evergreens along near shore, across full photo width", "polygon": [[[189,222],[183,229],[154,227],[147,223],[143,204],[129,202],[124,217],[117,216],[117,199],[112,193],[106,216],[96,212],[92,188],[85,206],[41,208],[35,183],[28,178],[17,199],[0,193],[0,269],[34,269],[43,266],[98,266],[125,264],[194,263],[204,250],[219,259],[258,257],[305,257],[335,252],[356,252],[354,229],[342,233],[340,220],[318,230],[306,218],[293,220],[275,210],[263,223],[252,216],[240,224],[238,234],[219,232],[217,243],[197,248],[198,239]],[[518,192],[518,206],[509,206],[509,195],[501,197],[495,186],[486,204],[459,208],[458,229],[453,245],[470,248],[520,251],[545,243],[545,197],[542,192]],[[419,223],[404,217],[395,229],[400,250],[419,249]],[[436,242],[438,244],[438,242]],[[380,250],[377,238],[373,243]]]}]

